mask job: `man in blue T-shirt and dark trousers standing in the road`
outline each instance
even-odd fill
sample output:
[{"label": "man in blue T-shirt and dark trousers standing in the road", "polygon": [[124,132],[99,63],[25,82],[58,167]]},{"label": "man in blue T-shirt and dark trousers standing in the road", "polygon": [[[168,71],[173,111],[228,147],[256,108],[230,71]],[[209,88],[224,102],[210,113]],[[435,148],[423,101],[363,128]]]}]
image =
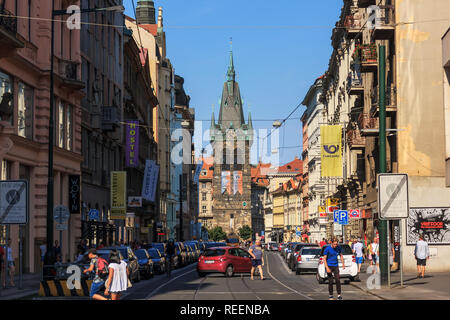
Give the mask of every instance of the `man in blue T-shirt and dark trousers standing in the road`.
[{"label": "man in blue T-shirt and dark trousers standing in the road", "polygon": [[325,248],[323,252],[323,262],[325,264],[325,270],[328,275],[328,292],[330,294],[329,300],[333,298],[333,277],[336,281],[336,291],[338,294],[338,300],[342,300],[341,296],[341,279],[339,276],[339,263],[338,256],[341,258],[342,269],[345,269],[344,256],[342,255],[342,249],[338,246],[338,240],[334,239],[330,246]]}]

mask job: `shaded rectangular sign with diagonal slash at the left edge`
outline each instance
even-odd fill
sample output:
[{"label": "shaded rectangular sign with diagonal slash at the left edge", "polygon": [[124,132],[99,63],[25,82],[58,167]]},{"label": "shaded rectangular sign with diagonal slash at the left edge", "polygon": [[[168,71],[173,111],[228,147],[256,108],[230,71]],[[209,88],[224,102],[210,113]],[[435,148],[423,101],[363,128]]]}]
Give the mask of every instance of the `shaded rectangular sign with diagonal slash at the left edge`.
[{"label": "shaded rectangular sign with diagonal slash at the left edge", "polygon": [[0,224],[27,224],[28,211],[28,181],[0,181]]}]

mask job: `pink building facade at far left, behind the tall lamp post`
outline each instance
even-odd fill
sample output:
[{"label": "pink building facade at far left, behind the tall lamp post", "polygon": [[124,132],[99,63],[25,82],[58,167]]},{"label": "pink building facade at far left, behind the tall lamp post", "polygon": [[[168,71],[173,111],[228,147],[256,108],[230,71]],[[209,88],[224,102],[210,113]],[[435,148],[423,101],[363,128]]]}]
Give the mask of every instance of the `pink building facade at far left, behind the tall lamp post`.
[{"label": "pink building facade at far left, behind the tall lamp post", "polygon": [[[79,1],[55,0],[55,9],[73,4]],[[0,178],[29,182],[29,222],[8,228],[16,266],[19,235],[23,240],[24,272],[40,270],[39,247],[46,242],[51,5],[48,0],[6,0],[0,7],[10,15],[0,19]],[[80,175],[82,161],[80,30],[55,22],[54,44],[54,205],[68,207],[69,175]],[[76,253],[80,215],[72,214],[68,225],[62,232],[63,261]],[[6,229],[1,226],[2,244]],[[60,240],[59,231],[54,230],[54,240]]]}]

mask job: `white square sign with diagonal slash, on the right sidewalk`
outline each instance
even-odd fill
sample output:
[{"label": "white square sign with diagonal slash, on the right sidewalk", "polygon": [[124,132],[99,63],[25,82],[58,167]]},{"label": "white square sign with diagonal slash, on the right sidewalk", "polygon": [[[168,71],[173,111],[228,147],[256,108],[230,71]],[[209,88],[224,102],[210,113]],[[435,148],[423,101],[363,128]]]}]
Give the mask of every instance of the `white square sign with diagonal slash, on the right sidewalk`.
[{"label": "white square sign with diagonal slash, on the right sidewalk", "polygon": [[378,211],[386,220],[406,219],[409,215],[408,175],[378,175]]}]

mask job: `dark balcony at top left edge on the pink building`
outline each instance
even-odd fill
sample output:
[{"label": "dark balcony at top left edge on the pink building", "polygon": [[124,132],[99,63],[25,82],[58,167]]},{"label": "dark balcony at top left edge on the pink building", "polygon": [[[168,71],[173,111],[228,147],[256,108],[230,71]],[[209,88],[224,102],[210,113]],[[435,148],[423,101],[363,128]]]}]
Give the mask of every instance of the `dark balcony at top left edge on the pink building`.
[{"label": "dark balcony at top left edge on the pink building", "polygon": [[5,9],[0,11],[0,56],[25,45],[17,38],[17,18]]}]

